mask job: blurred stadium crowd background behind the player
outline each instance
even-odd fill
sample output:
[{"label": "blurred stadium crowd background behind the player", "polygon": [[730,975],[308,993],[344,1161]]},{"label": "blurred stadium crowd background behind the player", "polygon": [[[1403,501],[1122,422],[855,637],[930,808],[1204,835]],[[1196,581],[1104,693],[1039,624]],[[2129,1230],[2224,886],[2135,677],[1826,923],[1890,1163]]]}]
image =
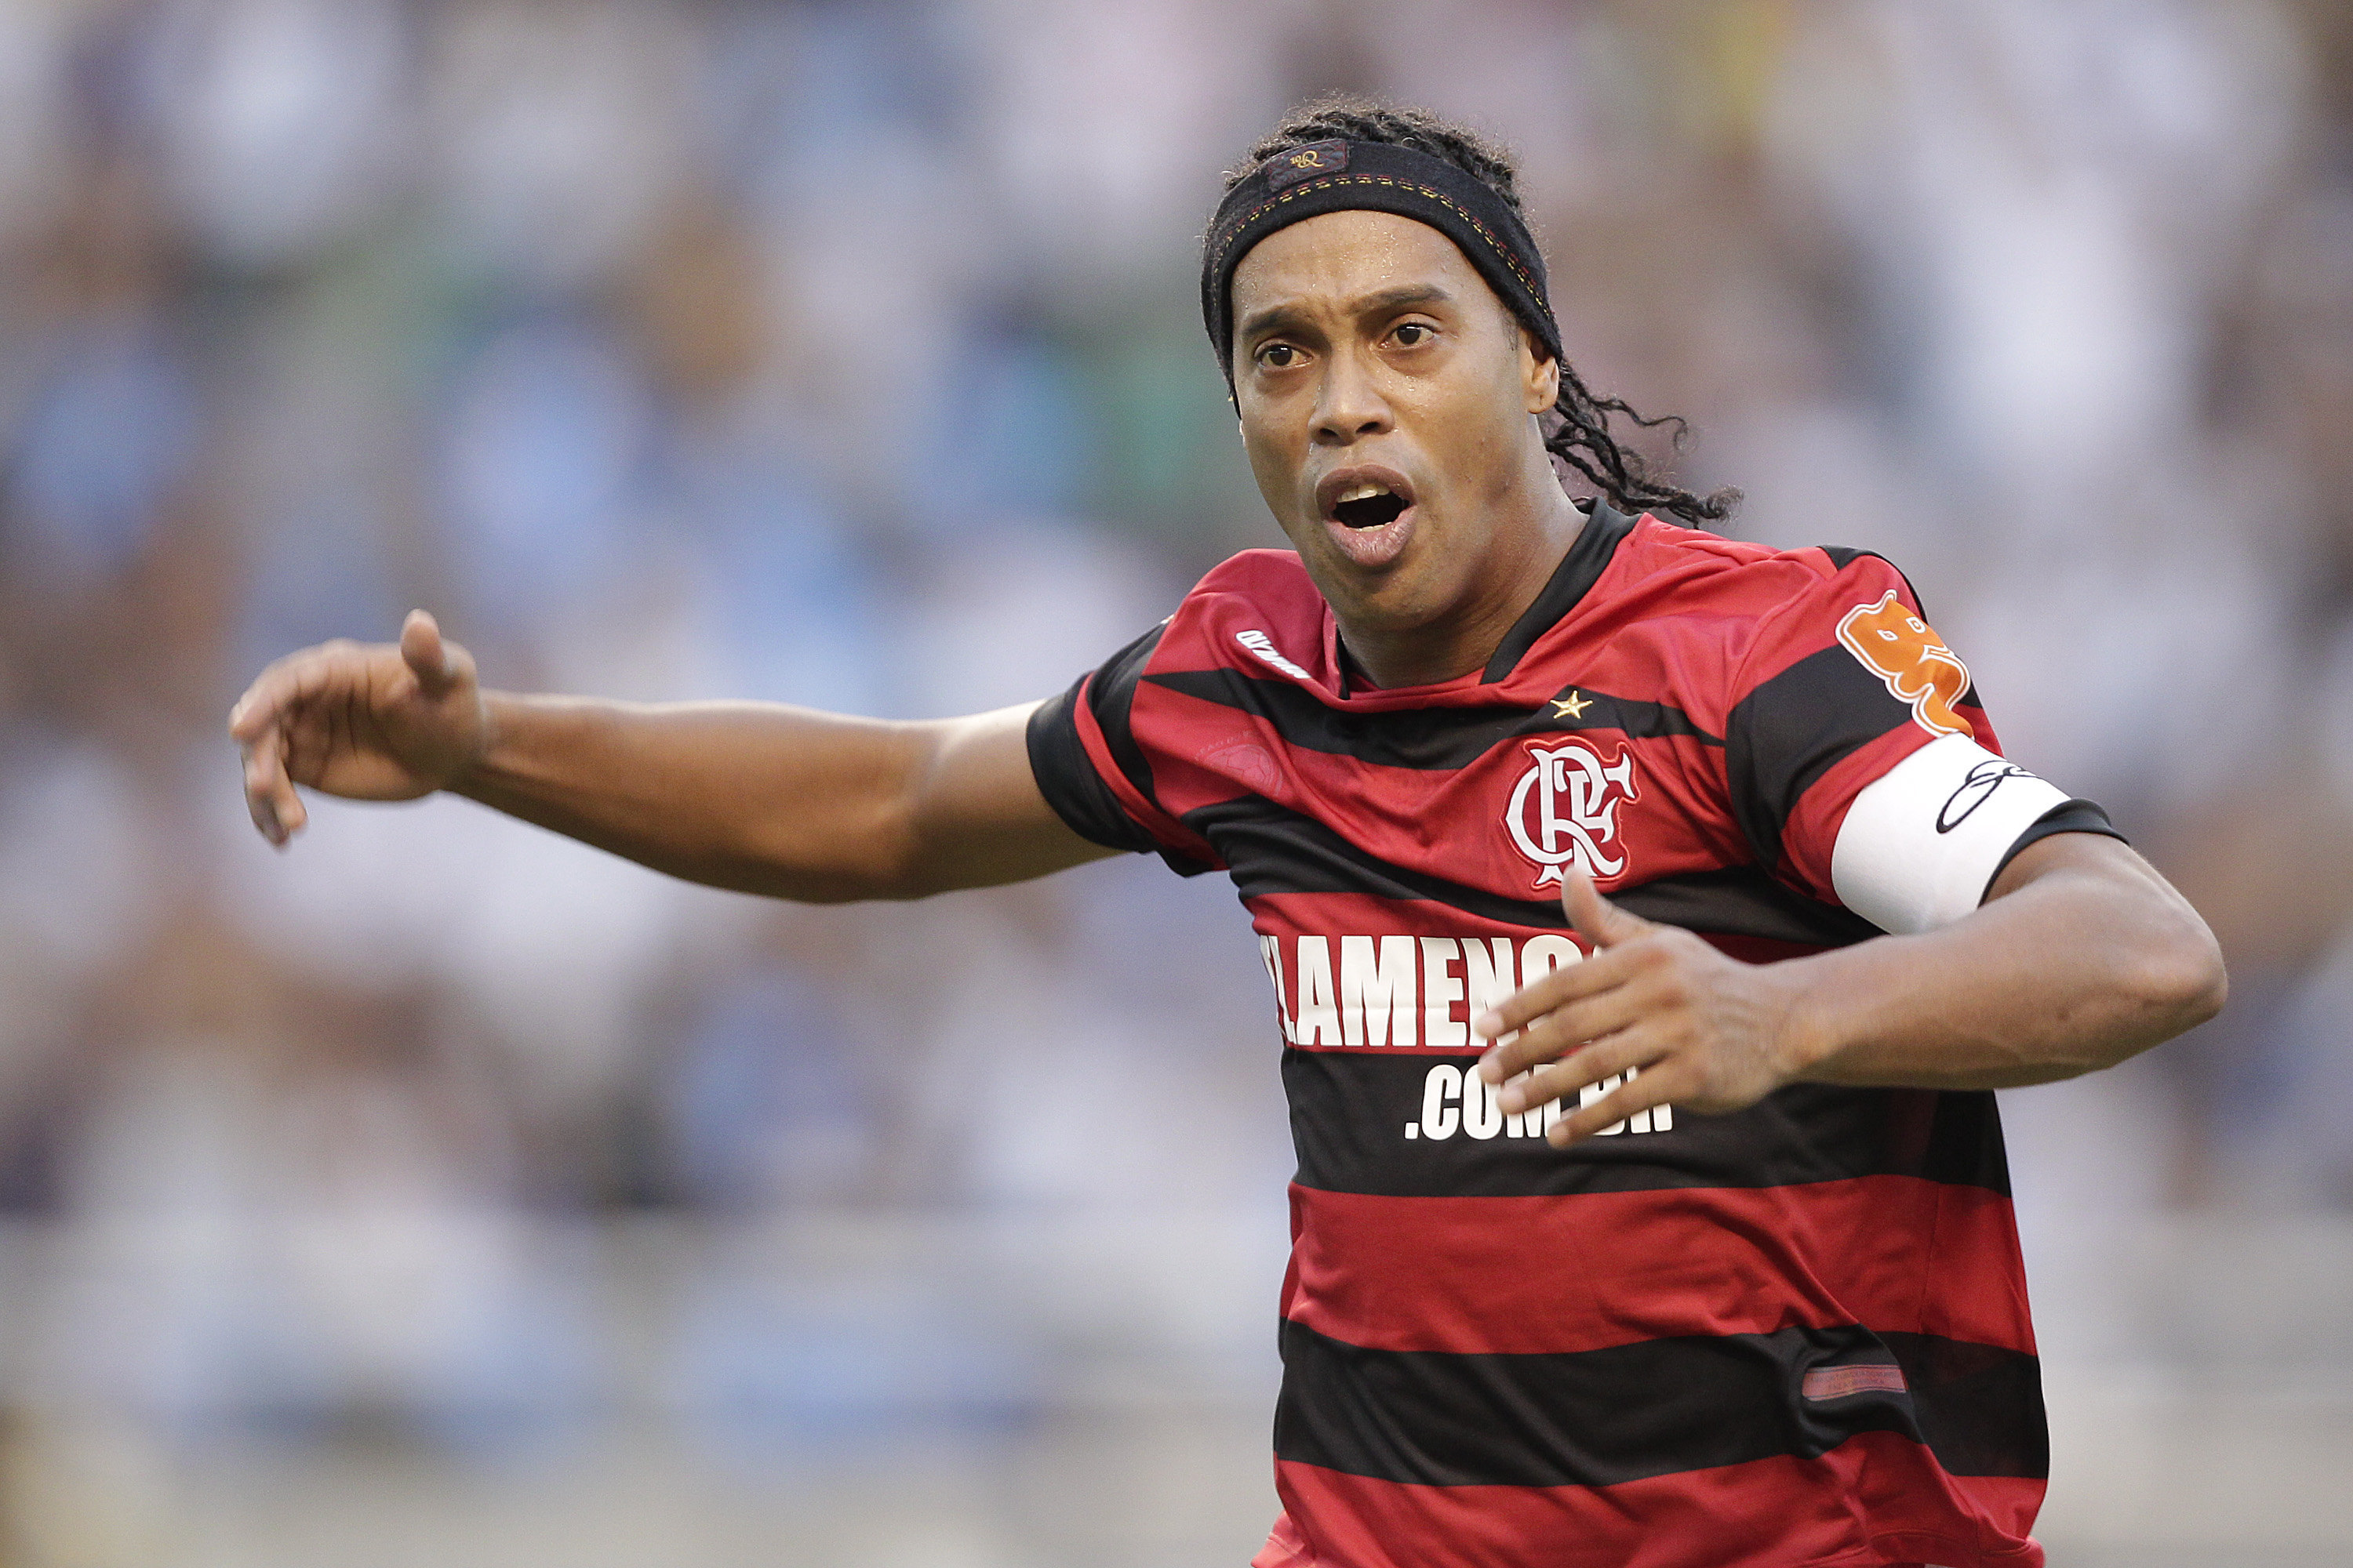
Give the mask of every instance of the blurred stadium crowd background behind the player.
[{"label": "blurred stadium crowd background behind the player", "polygon": [[1901,562],[2233,1004],[2005,1095],[2057,1568],[2353,1556],[2353,7],[0,0],[0,1563],[1240,1568],[1289,1171],[1212,879],[247,827],[228,701],[944,715],[1271,543],[1195,317],[1327,87]]}]

